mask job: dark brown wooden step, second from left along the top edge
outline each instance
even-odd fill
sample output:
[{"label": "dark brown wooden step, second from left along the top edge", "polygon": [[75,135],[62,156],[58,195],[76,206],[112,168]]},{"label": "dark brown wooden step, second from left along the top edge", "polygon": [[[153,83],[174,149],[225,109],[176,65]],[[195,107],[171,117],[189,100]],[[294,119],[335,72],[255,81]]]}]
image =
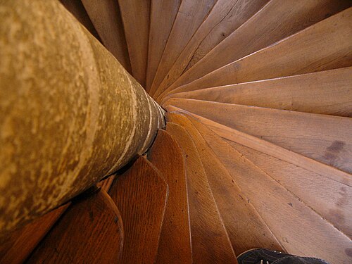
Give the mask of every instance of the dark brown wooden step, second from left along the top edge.
[{"label": "dark brown wooden step, second from left along the top edge", "polygon": [[128,56],[118,1],[81,1],[106,49],[131,73],[130,57]]}]

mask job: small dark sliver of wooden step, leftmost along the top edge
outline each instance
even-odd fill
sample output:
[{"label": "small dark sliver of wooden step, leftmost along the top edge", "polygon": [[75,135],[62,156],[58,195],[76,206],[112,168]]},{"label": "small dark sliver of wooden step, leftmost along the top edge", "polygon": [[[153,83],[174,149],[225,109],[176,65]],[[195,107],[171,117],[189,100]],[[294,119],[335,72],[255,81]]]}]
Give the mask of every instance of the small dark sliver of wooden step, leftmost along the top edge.
[{"label": "small dark sliver of wooden step, leftmost along the top edge", "polygon": [[87,28],[89,32],[91,32],[94,37],[96,37],[96,39],[99,39],[101,42],[99,34],[96,32],[96,29],[90,20],[87,11],[84,9],[82,1],[60,0],[60,2],[70,13],[73,14],[73,16],[75,16],[78,21],[80,21],[82,25],[84,25],[85,28]]}]

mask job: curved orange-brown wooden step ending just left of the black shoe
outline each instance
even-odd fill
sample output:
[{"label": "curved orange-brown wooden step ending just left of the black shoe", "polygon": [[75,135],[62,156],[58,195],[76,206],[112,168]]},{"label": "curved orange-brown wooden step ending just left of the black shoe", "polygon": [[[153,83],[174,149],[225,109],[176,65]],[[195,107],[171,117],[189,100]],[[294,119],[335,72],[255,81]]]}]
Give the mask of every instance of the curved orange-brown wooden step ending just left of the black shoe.
[{"label": "curved orange-brown wooden step ending just left of the black shoe", "polygon": [[166,131],[184,151],[193,263],[237,263],[193,140],[172,122]]}]

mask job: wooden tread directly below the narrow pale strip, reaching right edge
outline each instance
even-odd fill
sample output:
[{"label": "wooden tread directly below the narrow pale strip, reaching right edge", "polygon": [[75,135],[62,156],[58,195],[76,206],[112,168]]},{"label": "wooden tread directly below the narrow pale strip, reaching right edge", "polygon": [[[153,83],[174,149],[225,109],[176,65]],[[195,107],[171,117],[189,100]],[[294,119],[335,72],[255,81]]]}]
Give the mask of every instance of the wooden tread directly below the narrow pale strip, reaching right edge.
[{"label": "wooden tread directly below the narrow pale strip, reaching right edge", "polygon": [[352,201],[352,187],[230,140],[225,141],[352,238],[352,203],[349,202]]}]

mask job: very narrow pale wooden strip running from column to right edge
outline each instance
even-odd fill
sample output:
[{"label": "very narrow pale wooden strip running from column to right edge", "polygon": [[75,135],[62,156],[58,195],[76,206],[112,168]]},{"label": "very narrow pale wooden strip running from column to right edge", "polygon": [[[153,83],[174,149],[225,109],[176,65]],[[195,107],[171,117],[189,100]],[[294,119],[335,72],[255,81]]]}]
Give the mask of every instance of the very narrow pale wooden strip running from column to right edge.
[{"label": "very narrow pale wooden strip running from column to right edge", "polygon": [[248,146],[251,149],[266,153],[275,158],[279,158],[282,161],[287,161],[298,167],[304,168],[311,172],[315,172],[331,180],[341,182],[346,184],[346,186],[352,187],[351,175],[338,170],[337,168],[325,165],[324,163],[320,163],[311,158],[307,158],[298,153],[289,151],[282,148],[281,146],[277,146],[263,139],[259,139],[258,137],[253,137],[250,134],[240,132],[239,130],[234,130],[233,128],[226,127],[225,125],[221,125],[212,120],[202,118],[199,115],[183,111],[180,108],[176,108],[175,106],[168,106],[168,111],[181,111],[182,113],[187,113],[197,120],[200,120],[204,125],[210,128],[210,130],[224,139],[229,139],[232,142],[237,142],[238,144]]}]

